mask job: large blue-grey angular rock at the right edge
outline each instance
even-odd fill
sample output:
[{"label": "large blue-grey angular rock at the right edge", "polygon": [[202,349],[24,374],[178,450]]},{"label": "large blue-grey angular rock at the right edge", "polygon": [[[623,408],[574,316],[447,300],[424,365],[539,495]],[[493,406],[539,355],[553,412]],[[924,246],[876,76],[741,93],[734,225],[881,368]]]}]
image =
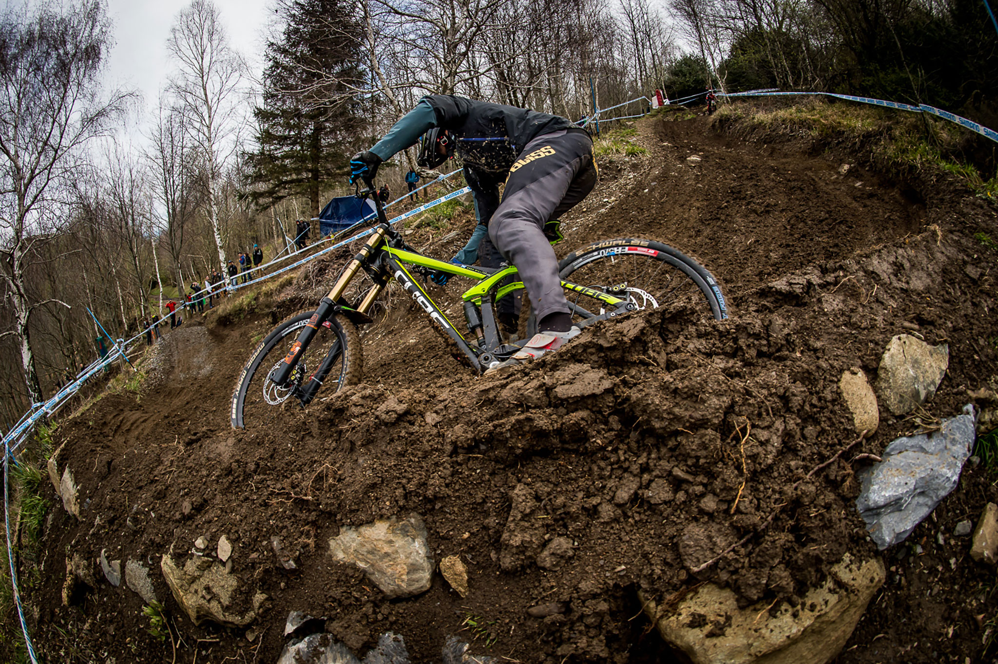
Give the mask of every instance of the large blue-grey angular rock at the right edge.
[{"label": "large blue-grey angular rock at the right edge", "polygon": [[943,420],[938,432],[903,437],[883,451],[883,461],[861,471],[856,507],[881,549],[911,534],[956,488],[974,444],[973,407]]}]

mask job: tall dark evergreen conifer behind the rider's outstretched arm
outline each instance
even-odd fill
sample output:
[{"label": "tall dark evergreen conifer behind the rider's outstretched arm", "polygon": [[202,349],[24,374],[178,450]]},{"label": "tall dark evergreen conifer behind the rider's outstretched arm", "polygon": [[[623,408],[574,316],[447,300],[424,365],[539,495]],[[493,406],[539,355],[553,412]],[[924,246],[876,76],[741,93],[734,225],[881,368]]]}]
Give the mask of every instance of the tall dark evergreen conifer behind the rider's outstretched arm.
[{"label": "tall dark evergreen conifer behind the rider's outstretched arm", "polygon": [[251,199],[266,207],[306,196],[319,211],[324,180],[348,172],[362,85],[356,7],[348,0],[283,0],[279,42],[266,47],[262,104],[256,107],[257,152],[250,155]]}]

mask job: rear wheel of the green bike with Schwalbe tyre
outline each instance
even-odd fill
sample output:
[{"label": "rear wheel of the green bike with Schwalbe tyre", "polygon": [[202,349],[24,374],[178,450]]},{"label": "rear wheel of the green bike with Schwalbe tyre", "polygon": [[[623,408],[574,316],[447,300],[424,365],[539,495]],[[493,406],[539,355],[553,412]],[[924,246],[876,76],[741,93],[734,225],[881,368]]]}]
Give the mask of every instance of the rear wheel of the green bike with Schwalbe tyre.
[{"label": "rear wheel of the green bike with Schwalbe tyre", "polygon": [[[603,240],[565,256],[558,264],[566,281],[624,297],[638,310],[690,304],[704,316],[728,318],[721,284],[707,268],[668,244],[653,240],[621,238]],[[566,289],[573,309],[572,321],[585,319],[582,311],[603,313],[600,302]],[[531,314],[528,331],[536,331]]]}]

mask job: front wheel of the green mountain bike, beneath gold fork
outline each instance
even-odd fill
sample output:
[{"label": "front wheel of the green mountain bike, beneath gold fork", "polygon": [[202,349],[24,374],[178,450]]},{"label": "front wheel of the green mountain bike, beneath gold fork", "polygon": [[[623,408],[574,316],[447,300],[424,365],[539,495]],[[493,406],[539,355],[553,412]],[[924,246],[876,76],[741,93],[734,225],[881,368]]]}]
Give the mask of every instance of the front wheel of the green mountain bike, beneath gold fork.
[{"label": "front wheel of the green mountain bike, beneath gold fork", "polygon": [[[284,319],[253,350],[233,393],[231,419],[234,429],[243,429],[246,422],[254,427],[270,424],[285,404],[300,403],[300,390],[322,365],[328,367],[328,372],[316,378],[326,394],[360,382],[360,336],[356,326],[339,314],[319,327],[308,348],[298,356],[286,388],[269,380],[270,372],[283,362],[312,313],[300,311]],[[329,362],[325,362],[326,359]]]}]

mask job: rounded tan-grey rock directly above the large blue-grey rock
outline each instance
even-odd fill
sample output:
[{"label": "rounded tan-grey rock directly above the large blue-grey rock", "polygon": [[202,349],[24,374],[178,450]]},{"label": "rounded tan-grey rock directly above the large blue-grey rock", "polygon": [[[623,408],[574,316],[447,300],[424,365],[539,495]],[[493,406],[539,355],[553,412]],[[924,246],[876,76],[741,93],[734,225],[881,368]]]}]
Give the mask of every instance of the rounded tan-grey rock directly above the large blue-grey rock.
[{"label": "rounded tan-grey rock directly above the large blue-grey rock", "polygon": [[877,371],[877,394],[894,415],[905,415],[935,395],[949,366],[949,346],[930,346],[899,334],[887,344]]}]

